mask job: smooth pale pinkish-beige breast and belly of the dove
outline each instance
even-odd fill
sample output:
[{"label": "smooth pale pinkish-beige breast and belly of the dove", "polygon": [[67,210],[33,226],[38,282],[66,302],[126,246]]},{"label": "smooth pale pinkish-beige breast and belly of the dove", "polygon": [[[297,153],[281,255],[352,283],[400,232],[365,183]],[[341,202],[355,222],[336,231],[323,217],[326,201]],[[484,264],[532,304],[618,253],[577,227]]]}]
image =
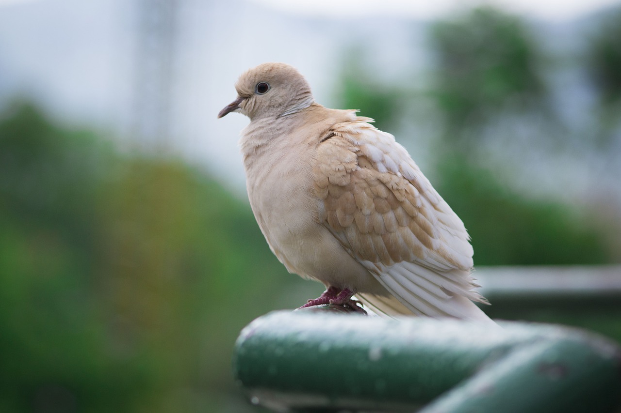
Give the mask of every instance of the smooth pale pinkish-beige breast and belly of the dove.
[{"label": "smooth pale pinkish-beige breast and belly of the dove", "polygon": [[[252,125],[252,123],[251,123]],[[368,270],[319,223],[313,166],[316,137],[290,130],[271,140],[252,125],[242,136],[250,206],[274,255],[289,272],[327,285],[385,293]]]}]

